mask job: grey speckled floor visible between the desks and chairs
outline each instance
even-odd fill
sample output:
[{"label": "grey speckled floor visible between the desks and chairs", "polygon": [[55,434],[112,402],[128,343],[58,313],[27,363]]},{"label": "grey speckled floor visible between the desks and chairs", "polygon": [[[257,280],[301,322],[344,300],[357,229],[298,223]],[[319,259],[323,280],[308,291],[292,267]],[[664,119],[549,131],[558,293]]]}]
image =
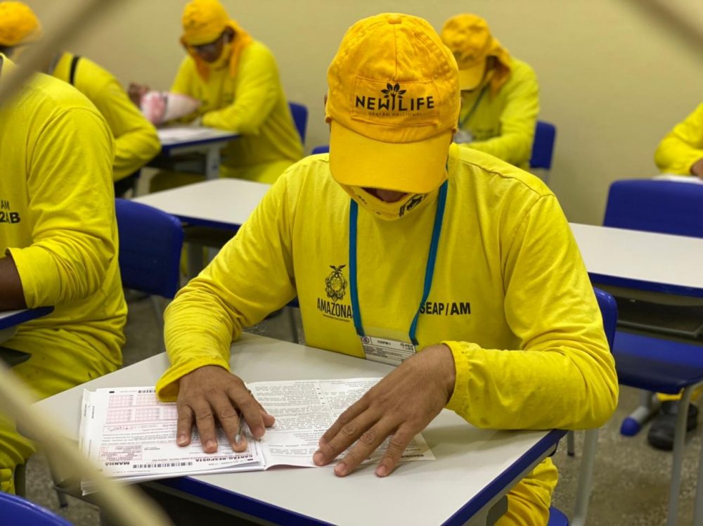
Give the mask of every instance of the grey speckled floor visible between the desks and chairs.
[{"label": "grey speckled floor visible between the desks and chairs", "polygon": [[[252,330],[273,338],[290,339],[290,317],[284,313]],[[150,302],[130,300],[127,345],[124,348],[125,364],[132,364],[154,354],[153,349],[158,348],[159,336]],[[593,496],[588,515],[590,525],[662,525],[666,518],[671,454],[648,447],[644,432],[633,438],[619,434],[620,421],[636,406],[638,396],[638,392],[622,388],[617,413],[600,431]],[[577,433],[575,458],[567,456],[565,443],[560,445],[554,457],[560,468],[560,483],[553,504],[567,515],[571,513],[574,503],[581,440],[583,433]],[[679,521],[682,525],[690,524],[692,520],[700,448],[700,432],[696,432],[686,448]],[[467,475],[470,476],[470,473]],[[46,462],[41,455],[35,456],[28,465],[27,496],[43,506],[58,510],[56,494],[51,489]],[[70,499],[69,506],[58,513],[77,526],[99,524],[96,508],[77,499]]]}]

